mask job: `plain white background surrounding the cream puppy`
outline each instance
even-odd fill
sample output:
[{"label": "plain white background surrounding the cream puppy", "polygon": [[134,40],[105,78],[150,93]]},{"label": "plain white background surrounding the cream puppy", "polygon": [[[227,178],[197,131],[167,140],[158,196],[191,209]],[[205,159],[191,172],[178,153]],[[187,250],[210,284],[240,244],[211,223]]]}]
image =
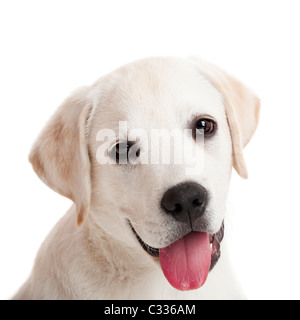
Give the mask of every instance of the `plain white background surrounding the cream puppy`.
[{"label": "plain white background surrounding the cream puppy", "polygon": [[[0,3],[0,298],[28,276],[70,201],[27,157],[74,88],[147,56],[199,55],[262,101],[245,150],[249,179],[232,176],[227,232],[250,299],[300,298],[299,1],[107,0]],[[225,275],[226,276],[226,275]]]}]

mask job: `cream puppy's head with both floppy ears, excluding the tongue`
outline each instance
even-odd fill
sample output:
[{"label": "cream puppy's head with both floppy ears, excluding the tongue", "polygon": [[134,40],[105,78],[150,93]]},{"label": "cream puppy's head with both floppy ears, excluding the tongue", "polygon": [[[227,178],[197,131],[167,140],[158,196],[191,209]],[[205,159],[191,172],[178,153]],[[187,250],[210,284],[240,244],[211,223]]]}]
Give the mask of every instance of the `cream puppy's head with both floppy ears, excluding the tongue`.
[{"label": "cream puppy's head with both floppy ears, excluding the tongue", "polygon": [[[88,216],[112,238],[153,256],[192,231],[209,234],[217,247],[231,168],[247,176],[242,148],[258,110],[244,86],[212,65],[145,59],[66,100],[30,160],[75,202],[79,225]],[[173,136],[170,148],[162,147],[165,135],[154,138],[162,132],[180,136],[179,151]],[[191,157],[192,174],[185,161]]]}]

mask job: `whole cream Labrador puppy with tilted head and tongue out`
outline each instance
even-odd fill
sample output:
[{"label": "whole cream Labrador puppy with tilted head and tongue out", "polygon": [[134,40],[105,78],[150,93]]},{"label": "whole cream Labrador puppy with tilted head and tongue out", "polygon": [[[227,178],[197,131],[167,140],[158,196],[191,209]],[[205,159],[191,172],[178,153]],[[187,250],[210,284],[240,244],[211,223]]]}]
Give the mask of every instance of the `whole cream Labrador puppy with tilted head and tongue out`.
[{"label": "whole cream Labrador puppy with tilted head and tongue out", "polygon": [[139,60],[71,94],[30,162],[74,205],[14,299],[244,298],[222,240],[259,108],[197,58]]}]

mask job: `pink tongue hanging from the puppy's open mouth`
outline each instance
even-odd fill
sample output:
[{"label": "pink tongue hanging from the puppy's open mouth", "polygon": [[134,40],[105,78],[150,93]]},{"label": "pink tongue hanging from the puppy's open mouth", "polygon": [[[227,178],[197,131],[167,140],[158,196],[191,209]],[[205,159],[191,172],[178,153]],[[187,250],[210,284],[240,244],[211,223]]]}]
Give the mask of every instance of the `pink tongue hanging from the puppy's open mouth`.
[{"label": "pink tongue hanging from the puppy's open mouth", "polygon": [[211,263],[208,233],[189,233],[160,249],[159,260],[165,277],[174,288],[182,291],[200,288]]}]

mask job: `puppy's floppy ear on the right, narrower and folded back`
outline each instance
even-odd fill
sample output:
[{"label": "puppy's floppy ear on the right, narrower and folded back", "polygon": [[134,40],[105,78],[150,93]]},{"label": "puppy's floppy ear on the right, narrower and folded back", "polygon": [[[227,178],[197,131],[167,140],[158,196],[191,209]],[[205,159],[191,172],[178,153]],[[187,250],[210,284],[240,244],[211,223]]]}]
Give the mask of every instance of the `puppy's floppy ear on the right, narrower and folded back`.
[{"label": "puppy's floppy ear on the right, narrower and folded back", "polygon": [[232,140],[233,167],[242,178],[247,179],[243,148],[258,125],[260,101],[241,82],[220,68],[197,58],[192,60],[223,96]]}]

